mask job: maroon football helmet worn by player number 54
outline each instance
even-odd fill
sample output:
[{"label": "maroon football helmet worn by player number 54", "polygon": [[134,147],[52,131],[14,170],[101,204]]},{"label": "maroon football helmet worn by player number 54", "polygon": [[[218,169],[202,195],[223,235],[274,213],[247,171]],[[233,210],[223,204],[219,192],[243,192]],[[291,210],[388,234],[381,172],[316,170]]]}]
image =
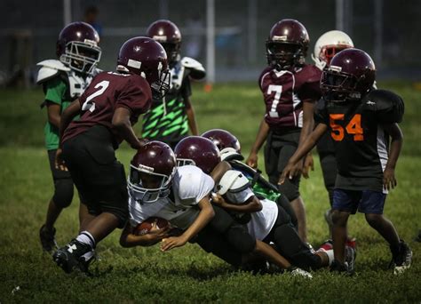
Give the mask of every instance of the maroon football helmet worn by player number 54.
[{"label": "maroon football helmet worn by player number 54", "polygon": [[367,52],[346,49],[338,52],[323,70],[323,97],[330,101],[359,100],[376,80],[376,67]]}]

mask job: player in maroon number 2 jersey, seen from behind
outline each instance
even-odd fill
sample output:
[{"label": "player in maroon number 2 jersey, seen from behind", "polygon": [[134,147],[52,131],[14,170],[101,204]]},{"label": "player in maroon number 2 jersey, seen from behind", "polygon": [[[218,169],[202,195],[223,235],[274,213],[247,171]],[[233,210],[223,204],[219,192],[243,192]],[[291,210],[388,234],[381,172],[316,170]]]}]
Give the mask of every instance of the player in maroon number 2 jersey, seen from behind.
[{"label": "player in maroon number 2 jersey, seen from behind", "polygon": [[[52,256],[66,272],[87,271],[96,244],[127,221],[125,173],[115,149],[122,140],[131,148],[142,147],[131,125],[150,107],[152,91],[164,94],[169,87],[167,55],[153,39],[126,41],[116,69],[95,76],[61,117],[57,165],[63,158],[89,211],[81,219],[80,234]],[[71,122],[78,114],[80,119]]]}]

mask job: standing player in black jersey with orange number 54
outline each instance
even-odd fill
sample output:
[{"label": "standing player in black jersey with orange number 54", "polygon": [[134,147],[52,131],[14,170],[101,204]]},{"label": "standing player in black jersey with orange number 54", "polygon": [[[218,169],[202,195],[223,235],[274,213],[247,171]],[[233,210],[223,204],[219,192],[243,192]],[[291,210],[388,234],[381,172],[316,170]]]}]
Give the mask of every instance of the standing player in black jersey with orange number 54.
[{"label": "standing player in black jersey with orange number 54", "polygon": [[[387,191],[397,185],[394,168],[402,146],[397,123],[404,108],[393,92],[372,90],[375,76],[374,62],[366,52],[351,48],[333,57],[322,75],[323,96],[314,117],[319,124],[290,158],[280,182],[297,174],[294,165],[329,130],[338,161],[332,206],[335,260],[331,269],[348,270],[346,224],[349,215],[358,210],[390,245],[396,274],[409,268],[412,252],[385,218],[383,209]],[[390,151],[388,136],[392,138]]]}]

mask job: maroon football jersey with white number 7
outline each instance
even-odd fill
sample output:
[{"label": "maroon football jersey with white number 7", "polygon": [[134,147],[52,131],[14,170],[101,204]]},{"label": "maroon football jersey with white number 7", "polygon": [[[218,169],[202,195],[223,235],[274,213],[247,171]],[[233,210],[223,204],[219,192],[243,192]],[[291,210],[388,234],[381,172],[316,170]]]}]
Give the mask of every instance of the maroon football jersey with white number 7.
[{"label": "maroon football jersey with white number 7", "polygon": [[322,96],[322,71],[314,65],[277,71],[265,68],[258,85],[266,104],[265,121],[272,131],[303,126],[303,102],[314,102]]}]

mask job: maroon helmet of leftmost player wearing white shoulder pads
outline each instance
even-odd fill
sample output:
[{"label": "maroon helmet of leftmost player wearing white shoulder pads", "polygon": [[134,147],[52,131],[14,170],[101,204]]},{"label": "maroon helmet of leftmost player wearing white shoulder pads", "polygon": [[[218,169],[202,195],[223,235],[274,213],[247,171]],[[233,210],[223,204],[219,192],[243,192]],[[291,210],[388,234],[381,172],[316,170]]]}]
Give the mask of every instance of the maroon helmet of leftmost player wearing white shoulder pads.
[{"label": "maroon helmet of leftmost player wearing white shoulder pads", "polygon": [[90,74],[101,57],[98,44],[99,35],[95,28],[88,23],[73,22],[61,30],[56,53],[69,68]]}]

